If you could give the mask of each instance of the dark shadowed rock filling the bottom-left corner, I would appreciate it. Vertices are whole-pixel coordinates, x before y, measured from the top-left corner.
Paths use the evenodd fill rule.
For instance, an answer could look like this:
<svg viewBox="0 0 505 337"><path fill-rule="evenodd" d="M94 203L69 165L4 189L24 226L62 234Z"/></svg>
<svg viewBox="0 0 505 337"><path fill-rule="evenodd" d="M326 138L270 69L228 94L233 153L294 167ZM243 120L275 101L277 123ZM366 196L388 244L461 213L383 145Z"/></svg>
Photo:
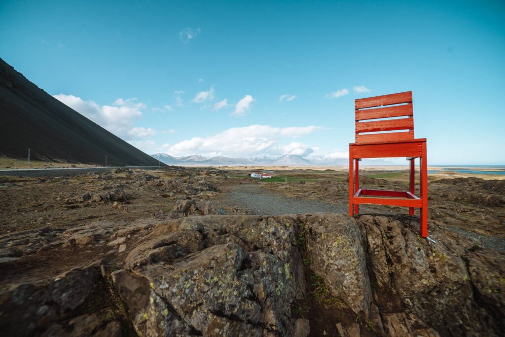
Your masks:
<svg viewBox="0 0 505 337"><path fill-rule="evenodd" d="M104 296L110 294L98 266L22 283L2 294L0 330L5 335L120 336L120 315Z"/></svg>

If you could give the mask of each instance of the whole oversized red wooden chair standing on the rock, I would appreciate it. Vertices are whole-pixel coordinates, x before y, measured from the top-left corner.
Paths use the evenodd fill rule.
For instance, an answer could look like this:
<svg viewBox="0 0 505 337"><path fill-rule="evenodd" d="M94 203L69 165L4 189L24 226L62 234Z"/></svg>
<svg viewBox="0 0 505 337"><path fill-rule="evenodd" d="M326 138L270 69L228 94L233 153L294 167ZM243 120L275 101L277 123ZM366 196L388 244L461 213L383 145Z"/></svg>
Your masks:
<svg viewBox="0 0 505 337"><path fill-rule="evenodd" d="M410 161L409 191L360 189L361 159L393 157ZM416 158L421 167L420 197L414 194ZM360 204L405 206L410 215L414 215L415 207L421 208L421 236L428 236L427 167L426 138L414 138L412 91L356 100L356 142L349 144L350 216L359 213Z"/></svg>

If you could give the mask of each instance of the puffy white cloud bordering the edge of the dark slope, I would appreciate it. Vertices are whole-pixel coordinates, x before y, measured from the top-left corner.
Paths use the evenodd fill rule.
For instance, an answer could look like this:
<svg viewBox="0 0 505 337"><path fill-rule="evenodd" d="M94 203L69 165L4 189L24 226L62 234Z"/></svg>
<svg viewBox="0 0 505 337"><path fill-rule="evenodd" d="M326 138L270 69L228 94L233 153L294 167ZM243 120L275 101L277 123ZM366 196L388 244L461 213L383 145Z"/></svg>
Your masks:
<svg viewBox="0 0 505 337"><path fill-rule="evenodd" d="M60 93L53 97L120 138L134 140L152 132L145 130L154 131L145 129L141 132L143 128L133 127L133 122L142 118L142 110L147 108L143 103L136 103L136 99L117 99L112 105L100 106L74 95Z"/></svg>

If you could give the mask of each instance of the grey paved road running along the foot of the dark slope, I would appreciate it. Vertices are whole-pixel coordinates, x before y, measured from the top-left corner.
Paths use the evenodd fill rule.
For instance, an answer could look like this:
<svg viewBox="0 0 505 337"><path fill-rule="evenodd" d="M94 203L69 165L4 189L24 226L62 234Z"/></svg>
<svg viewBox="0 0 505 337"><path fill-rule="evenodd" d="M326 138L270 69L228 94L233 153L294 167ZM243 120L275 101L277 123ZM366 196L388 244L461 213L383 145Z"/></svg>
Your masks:
<svg viewBox="0 0 505 337"><path fill-rule="evenodd" d="M7 169L0 170L0 175L22 177L56 177L62 175L79 175L89 171L109 171L115 168L129 169L158 169L158 166L98 166L98 167L67 167L67 168L44 168L44 169Z"/></svg>

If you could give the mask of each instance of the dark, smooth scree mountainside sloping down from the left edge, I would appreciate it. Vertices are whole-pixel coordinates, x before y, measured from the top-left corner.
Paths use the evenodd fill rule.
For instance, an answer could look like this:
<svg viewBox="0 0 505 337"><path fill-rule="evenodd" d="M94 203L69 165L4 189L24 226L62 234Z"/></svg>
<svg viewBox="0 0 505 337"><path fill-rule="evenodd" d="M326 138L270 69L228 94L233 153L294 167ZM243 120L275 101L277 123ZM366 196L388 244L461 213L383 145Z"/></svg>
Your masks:
<svg viewBox="0 0 505 337"><path fill-rule="evenodd" d="M114 166L158 160L93 123L0 59L0 156ZM162 164L164 165L164 164Z"/></svg>

